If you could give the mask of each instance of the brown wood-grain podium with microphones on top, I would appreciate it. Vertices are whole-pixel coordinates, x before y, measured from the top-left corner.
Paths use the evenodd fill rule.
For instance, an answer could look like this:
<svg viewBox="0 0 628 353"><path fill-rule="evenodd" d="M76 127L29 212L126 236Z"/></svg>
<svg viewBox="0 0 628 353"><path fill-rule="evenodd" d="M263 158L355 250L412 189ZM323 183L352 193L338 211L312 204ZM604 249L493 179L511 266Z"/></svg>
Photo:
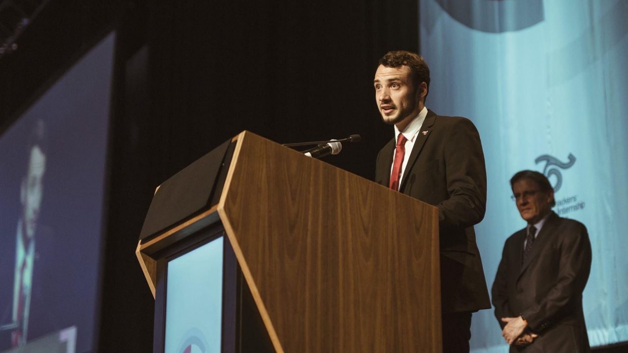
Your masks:
<svg viewBox="0 0 628 353"><path fill-rule="evenodd" d="M237 293L224 290L239 308L229 336L237 342L223 342L223 352L255 347L242 344L246 335L276 352L441 352L436 207L247 131L224 146L206 206L139 241L156 303L167 250L219 227L237 260L238 293L252 303L247 309L246 295L232 300ZM225 281L233 273L225 269ZM242 315L260 324L242 330L253 320ZM248 350L262 352L263 343Z"/></svg>

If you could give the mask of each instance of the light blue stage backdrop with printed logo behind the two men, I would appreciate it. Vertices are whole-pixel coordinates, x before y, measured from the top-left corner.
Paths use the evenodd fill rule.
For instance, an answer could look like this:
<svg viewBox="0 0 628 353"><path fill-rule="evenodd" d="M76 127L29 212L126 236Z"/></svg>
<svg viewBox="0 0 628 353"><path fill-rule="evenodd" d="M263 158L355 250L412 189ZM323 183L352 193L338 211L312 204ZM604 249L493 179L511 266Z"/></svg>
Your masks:
<svg viewBox="0 0 628 353"><path fill-rule="evenodd" d="M489 181L477 225L487 284L524 227L509 178L548 175L554 210L587 225L583 294L593 346L628 340L628 1L420 2L426 106L477 125ZM493 310L474 314L473 352L506 352Z"/></svg>

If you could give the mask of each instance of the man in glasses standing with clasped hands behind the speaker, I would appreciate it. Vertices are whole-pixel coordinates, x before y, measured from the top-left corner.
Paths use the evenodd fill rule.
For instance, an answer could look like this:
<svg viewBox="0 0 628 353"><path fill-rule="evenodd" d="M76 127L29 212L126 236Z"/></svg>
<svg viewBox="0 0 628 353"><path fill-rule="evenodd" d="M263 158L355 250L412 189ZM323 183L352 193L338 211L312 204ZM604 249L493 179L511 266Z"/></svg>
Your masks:
<svg viewBox="0 0 628 353"><path fill-rule="evenodd" d="M511 352L588 352L582 312L591 269L587 228L552 212L554 190L543 174L519 171L511 187L528 226L506 239L493 283L502 336Z"/></svg>

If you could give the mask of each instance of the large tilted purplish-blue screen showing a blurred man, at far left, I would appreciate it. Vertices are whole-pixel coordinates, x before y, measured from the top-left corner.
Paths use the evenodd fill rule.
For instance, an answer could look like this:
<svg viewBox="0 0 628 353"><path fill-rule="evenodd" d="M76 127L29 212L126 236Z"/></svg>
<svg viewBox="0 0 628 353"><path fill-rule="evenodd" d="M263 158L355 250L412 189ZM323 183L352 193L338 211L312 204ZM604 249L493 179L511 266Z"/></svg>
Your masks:
<svg viewBox="0 0 628 353"><path fill-rule="evenodd" d="M0 352L91 352L115 36L0 136Z"/></svg>

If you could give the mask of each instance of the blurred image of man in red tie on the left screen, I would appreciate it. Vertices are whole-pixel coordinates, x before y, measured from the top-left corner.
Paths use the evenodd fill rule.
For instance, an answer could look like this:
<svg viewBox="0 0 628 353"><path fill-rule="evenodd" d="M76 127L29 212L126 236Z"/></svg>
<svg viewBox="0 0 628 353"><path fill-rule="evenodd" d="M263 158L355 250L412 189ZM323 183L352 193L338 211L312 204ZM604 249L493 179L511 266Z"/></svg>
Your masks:
<svg viewBox="0 0 628 353"><path fill-rule="evenodd" d="M13 332L11 332L11 345L13 347L26 344L28 334L37 224L46 172L44 141L45 126L43 121L38 120L28 139L26 149L28 164L21 180L21 214L16 230L16 261L13 285L12 318L15 325Z"/></svg>

